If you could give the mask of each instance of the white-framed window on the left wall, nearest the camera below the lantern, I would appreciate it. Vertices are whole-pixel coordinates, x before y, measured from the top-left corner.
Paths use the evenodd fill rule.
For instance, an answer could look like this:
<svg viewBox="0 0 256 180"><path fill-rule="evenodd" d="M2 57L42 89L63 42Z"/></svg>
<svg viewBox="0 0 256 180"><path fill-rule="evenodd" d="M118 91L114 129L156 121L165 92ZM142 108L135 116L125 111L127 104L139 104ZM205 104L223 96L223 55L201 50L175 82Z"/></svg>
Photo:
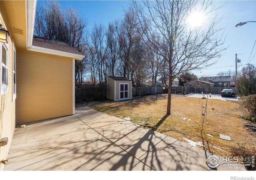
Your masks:
<svg viewBox="0 0 256 180"><path fill-rule="evenodd" d="M0 95L8 93L8 44L0 43Z"/></svg>

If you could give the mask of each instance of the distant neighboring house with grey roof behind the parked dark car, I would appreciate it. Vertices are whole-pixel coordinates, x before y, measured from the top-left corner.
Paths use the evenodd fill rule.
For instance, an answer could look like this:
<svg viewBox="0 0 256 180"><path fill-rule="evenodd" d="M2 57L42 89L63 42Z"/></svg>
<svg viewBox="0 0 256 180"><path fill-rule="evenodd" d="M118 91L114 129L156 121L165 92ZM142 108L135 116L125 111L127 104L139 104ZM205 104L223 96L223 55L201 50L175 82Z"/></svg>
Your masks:
<svg viewBox="0 0 256 180"><path fill-rule="evenodd" d="M212 76L212 77L203 77L200 79L214 83L215 87L230 87L230 86L232 86L231 76Z"/></svg>

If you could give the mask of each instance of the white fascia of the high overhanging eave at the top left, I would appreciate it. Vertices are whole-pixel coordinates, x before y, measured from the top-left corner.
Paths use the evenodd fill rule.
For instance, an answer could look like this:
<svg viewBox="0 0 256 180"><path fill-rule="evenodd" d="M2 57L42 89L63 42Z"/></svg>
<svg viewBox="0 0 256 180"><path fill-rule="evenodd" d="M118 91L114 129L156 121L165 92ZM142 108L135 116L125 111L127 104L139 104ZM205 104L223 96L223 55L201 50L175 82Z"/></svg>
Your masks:
<svg viewBox="0 0 256 180"><path fill-rule="evenodd" d="M37 0L26 1L26 18L27 18L27 48L32 46L34 36L34 25L36 19L36 2Z"/></svg>

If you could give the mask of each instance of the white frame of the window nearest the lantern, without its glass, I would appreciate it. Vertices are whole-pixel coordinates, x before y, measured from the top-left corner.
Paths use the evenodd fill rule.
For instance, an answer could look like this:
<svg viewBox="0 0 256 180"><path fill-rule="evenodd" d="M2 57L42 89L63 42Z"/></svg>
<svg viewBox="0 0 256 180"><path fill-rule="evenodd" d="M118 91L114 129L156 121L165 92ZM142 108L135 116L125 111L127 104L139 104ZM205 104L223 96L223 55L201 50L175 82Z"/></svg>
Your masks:
<svg viewBox="0 0 256 180"><path fill-rule="evenodd" d="M3 66L3 63L2 63L2 47L4 47L6 49L6 65L5 65L5 68L7 70L7 84L3 84L2 82L2 66ZM5 43L0 43L0 64L1 64L1 68L0 68L0 86L1 86L1 89L0 89L0 95L2 94L6 94L8 93L8 80L9 80L9 75L8 75L8 72L9 72L9 69L8 69L8 44L5 44Z"/></svg>

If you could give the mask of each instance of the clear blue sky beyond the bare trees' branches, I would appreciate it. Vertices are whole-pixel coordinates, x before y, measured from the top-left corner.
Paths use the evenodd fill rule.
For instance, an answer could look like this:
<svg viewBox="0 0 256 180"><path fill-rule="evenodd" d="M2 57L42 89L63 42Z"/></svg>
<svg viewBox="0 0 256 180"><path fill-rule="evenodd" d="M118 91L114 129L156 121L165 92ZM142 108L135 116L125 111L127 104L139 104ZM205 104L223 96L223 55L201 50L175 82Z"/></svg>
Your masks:
<svg viewBox="0 0 256 180"><path fill-rule="evenodd" d="M41 2L43 1L38 1L38 3ZM194 71L194 74L198 77L217 76L218 72L228 70L235 71L235 54L241 60L241 63L238 63L238 72L248 62L256 64L256 45L254 47L256 42L256 22L248 22L240 28L235 27L240 22L256 21L256 0L221 0L216 1L216 3L218 6L224 4L217 12L219 16L223 16L220 26L225 28L224 35L226 35L226 40L224 47L228 48L215 65ZM75 10L80 11L80 15L88 23L87 29L91 30L95 23L101 23L107 27L109 22L122 19L124 9L128 7L129 1L64 0L60 1L60 4L63 8L72 6Z"/></svg>

